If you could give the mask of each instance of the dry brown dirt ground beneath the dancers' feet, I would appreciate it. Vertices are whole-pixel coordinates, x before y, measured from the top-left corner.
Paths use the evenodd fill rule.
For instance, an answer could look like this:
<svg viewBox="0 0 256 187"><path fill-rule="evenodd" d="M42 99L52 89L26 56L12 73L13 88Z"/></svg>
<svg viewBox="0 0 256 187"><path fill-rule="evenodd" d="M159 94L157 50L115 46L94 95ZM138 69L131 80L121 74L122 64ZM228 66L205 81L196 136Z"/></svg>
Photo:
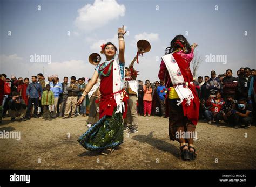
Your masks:
<svg viewBox="0 0 256 187"><path fill-rule="evenodd" d="M237 130L225 124L198 123L198 157L189 162L181 160L179 143L169 140L168 119L139 116L139 132L125 131L124 143L108 156L87 151L77 142L87 130L86 120L80 116L25 122L4 118L0 131L20 131L21 140L0 139L0 168L256 169L255 126Z"/></svg>

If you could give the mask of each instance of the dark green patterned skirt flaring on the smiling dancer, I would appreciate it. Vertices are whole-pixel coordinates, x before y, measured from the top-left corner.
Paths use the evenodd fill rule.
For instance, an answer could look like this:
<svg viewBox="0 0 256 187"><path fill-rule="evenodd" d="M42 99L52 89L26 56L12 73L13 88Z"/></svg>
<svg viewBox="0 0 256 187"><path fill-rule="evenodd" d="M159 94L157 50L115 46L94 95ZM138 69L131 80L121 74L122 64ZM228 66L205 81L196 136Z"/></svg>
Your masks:
<svg viewBox="0 0 256 187"><path fill-rule="evenodd" d="M112 116L103 116L77 141L87 150L111 149L123 143L123 116L114 112Z"/></svg>

